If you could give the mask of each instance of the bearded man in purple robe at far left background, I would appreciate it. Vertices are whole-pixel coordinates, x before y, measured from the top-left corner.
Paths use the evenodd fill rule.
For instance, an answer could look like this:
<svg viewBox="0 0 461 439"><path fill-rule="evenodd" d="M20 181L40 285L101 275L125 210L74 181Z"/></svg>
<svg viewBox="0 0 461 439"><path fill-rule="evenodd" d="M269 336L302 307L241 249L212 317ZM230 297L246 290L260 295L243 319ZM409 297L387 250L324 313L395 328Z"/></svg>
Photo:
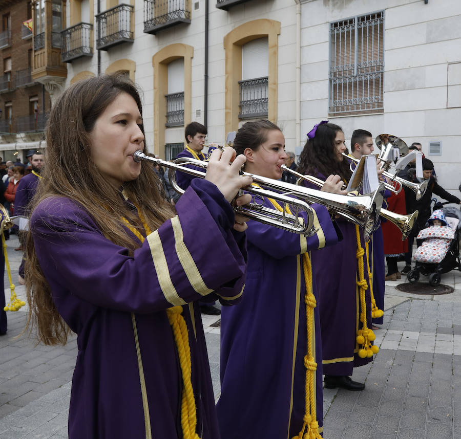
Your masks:
<svg viewBox="0 0 461 439"><path fill-rule="evenodd" d="M17 186L16 196L14 199L14 214L29 216L28 205L37 190L38 180L41 179L40 172L44 167L44 157L40 151L34 151L31 155L30 164L32 172L25 175ZM23 245L22 234L19 234L19 240ZM19 283L24 285L24 256L19 266Z"/></svg>

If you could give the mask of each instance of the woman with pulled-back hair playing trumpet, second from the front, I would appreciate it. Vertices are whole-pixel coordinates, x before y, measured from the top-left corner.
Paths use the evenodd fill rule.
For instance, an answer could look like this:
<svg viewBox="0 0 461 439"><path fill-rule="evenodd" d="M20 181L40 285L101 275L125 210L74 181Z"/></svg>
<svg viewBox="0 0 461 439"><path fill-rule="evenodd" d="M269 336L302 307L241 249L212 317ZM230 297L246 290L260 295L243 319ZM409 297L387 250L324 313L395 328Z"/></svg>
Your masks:
<svg viewBox="0 0 461 439"><path fill-rule="evenodd" d="M278 126L268 120L247 122L234 148L245 155L246 172L282 177L287 155ZM332 175L325 190L339 191L339 180ZM275 200L264 205L283 209ZM338 236L327 209L312 206L318 232L311 237L248 222L244 295L238 305L222 309L217 404L222 439L303 437L308 429L320 437L322 356L317 308L312 309L316 280L307 252L336 243ZM311 380L306 382L306 375Z"/></svg>

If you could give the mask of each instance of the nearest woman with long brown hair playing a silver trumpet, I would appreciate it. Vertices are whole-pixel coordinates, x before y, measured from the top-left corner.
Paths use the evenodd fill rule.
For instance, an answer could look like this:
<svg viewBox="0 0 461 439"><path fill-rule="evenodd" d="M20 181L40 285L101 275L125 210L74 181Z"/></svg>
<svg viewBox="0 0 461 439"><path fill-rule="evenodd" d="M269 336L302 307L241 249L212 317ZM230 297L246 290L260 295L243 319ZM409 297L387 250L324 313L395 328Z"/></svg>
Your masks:
<svg viewBox="0 0 461 439"><path fill-rule="evenodd" d="M142 108L128 79L79 81L53 105L30 220L29 321L46 344L78 335L70 439L215 439L195 301L240 298L246 224L229 201L251 179L238 174L244 157L229 165L235 151L217 151L174 210L137 149Z"/></svg>

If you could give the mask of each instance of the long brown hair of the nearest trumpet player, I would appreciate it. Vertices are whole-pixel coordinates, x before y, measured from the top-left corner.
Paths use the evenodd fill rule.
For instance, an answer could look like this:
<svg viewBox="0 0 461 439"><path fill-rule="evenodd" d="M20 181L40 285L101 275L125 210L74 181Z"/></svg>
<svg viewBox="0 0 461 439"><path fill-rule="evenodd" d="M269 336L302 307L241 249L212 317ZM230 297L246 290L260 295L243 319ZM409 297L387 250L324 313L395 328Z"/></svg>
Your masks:
<svg viewBox="0 0 461 439"><path fill-rule="evenodd" d="M90 213L106 238L132 254L139 242L125 232L121 217L142 229L139 218L127 208L119 191L104 179L90 154L89 135L96 119L120 93L133 97L142 117L136 86L124 76L88 78L71 85L60 95L47 123L46 166L30 210L32 212L38 203L50 196L67 197ZM143 125L141 130L144 133ZM145 143L143 152L146 152ZM129 200L139 207L151 230L158 229L174 216L174 209L159 192L158 177L149 162L142 162L139 177L125 182L123 188ZM29 302L26 330L32 332L35 328L38 340L45 344L65 344L70 329L56 310L31 233L26 249L26 292Z"/></svg>

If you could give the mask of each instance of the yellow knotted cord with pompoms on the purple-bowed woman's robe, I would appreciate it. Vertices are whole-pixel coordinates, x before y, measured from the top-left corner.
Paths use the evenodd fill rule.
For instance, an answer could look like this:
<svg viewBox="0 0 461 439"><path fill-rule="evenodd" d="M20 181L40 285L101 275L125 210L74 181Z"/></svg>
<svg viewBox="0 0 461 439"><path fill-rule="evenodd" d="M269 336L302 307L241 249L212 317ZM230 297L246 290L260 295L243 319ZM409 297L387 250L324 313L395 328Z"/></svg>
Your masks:
<svg viewBox="0 0 461 439"><path fill-rule="evenodd" d="M359 347L358 355L360 358L370 358L373 354L378 354L379 347L374 346L371 342L376 338L373 331L367 327L367 304L365 301L365 292L368 290L368 283L365 279L363 255L365 254L360 242L359 226L355 225L355 235L357 236L357 261L359 266L359 299L360 299L360 321L362 322L362 329L357 331L357 343L362 345ZM367 258L368 261L368 258Z"/></svg>

